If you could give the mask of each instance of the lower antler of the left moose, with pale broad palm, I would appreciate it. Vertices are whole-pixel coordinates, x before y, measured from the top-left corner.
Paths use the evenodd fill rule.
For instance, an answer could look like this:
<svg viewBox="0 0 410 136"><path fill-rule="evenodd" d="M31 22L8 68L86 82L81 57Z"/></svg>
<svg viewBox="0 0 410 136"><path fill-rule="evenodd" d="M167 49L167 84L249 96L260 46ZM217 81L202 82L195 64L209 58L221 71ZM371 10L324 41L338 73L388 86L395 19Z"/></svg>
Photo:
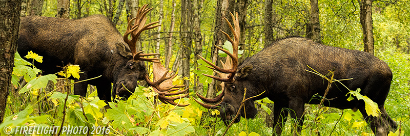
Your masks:
<svg viewBox="0 0 410 136"><path fill-rule="evenodd" d="M180 99L183 97L187 97L189 94L185 94L182 96L174 96L174 97L167 97L171 95L178 95L182 94L188 91L189 88L179 91L179 92L174 92L174 93L169 93L171 91L176 91L179 90L183 86L177 86L177 85L172 85L172 78L176 76L175 73L169 73L168 69L163 67L160 63L153 63L153 71L154 71L154 81L150 80L150 77L148 74L145 75L145 80L147 81L148 85L150 85L155 92L157 92L158 99L162 101L163 103L170 103L172 105L176 106L188 106L189 104L178 104L174 102L176 99Z"/></svg>

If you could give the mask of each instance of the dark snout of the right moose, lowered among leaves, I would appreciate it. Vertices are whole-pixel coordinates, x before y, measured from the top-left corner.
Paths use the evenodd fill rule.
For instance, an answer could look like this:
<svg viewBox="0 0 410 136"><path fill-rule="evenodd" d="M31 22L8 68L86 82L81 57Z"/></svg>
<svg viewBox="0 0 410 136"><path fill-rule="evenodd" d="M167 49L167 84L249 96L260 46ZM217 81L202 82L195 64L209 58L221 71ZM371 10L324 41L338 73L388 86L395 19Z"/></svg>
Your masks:
<svg viewBox="0 0 410 136"><path fill-rule="evenodd" d="M221 106L219 108L219 113L220 113L223 123L228 126L229 123L231 123L231 121L235 118L237 111L238 109L232 106L231 104L221 103ZM239 121L240 121L240 116L238 116L234 122L237 123Z"/></svg>

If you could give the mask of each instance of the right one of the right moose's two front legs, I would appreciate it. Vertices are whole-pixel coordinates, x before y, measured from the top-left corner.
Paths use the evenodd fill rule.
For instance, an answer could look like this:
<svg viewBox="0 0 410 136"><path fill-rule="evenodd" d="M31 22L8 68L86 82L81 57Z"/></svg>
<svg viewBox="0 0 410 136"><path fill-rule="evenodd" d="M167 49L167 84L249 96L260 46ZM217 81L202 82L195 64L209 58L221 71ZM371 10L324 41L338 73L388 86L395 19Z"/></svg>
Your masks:
<svg viewBox="0 0 410 136"><path fill-rule="evenodd" d="M302 99L293 99L289 102L289 108L293 111L290 111L291 117L296 120L294 128L296 131L293 131L293 135L300 135L303 126L303 112L304 112L304 103Z"/></svg>

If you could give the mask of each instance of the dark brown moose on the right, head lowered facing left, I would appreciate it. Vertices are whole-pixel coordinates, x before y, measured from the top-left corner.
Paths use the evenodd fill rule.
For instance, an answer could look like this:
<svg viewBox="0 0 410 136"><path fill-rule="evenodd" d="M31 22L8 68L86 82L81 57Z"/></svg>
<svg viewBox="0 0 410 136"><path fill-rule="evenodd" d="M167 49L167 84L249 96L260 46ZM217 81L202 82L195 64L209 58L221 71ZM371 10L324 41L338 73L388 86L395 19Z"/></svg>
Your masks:
<svg viewBox="0 0 410 136"><path fill-rule="evenodd" d="M364 101L356 98L347 101L348 90L338 83L332 84L326 96L327 99L323 102L325 106L358 109L376 135L387 135L388 131L397 129L396 122L384 110L384 101L392 81L392 72L385 62L367 52L325 46L306 38L287 37L276 40L272 45L264 47L238 65L237 51L240 34L238 15L236 19L232 14L231 16L235 29L226 18L224 19L231 28L234 40L228 34L222 33L232 43L233 53L218 48L232 58L232 68L222 69L202 58L212 66L209 68L229 74L226 78L207 75L225 82L223 92L214 99L204 98L197 94L204 102L217 103L209 105L197 101L206 108L219 107L221 119L226 125L229 123L227 121L231 121L238 112L246 88L245 98L266 92L245 101L245 112L243 108L240 111L242 117L255 117L257 110L254 101L268 97L274 101L273 135L281 134L288 114L298 122L294 124L297 125L294 127L297 130L293 134L300 133L304 119L304 103L319 104L320 96L324 95L327 87L325 79L306 71L310 70L308 67L310 66L322 74L334 69L335 79L353 78L343 80L341 83L351 90L360 88L360 94L376 102L381 113L378 117L368 116L365 112ZM235 122L239 120L240 118L237 118Z"/></svg>

